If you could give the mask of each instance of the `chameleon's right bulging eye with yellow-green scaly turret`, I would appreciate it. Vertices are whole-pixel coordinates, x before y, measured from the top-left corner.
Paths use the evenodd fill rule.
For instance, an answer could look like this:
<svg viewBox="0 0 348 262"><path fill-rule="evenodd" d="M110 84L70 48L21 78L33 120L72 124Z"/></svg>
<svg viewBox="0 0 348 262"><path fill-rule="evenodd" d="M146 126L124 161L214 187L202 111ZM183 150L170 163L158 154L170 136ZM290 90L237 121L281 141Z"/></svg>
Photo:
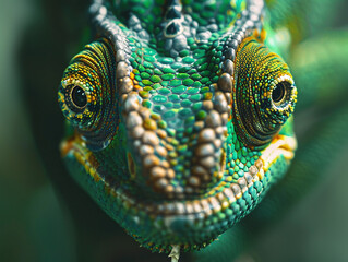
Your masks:
<svg viewBox="0 0 348 262"><path fill-rule="evenodd" d="M267 47L248 37L236 57L233 121L245 146L262 148L293 111L297 88L288 66Z"/></svg>

